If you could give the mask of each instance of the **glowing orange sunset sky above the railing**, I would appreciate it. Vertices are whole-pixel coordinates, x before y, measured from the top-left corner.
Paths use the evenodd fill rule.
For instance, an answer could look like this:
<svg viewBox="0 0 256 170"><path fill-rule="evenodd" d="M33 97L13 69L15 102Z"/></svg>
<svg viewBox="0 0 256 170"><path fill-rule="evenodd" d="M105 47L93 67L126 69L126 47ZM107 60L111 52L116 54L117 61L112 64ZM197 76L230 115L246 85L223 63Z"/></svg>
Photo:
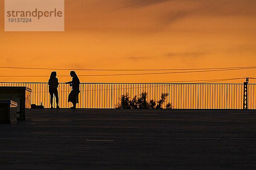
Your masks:
<svg viewBox="0 0 256 170"><path fill-rule="evenodd" d="M70 70L256 66L255 9L256 0L65 0L64 32L5 32L4 0L0 0L0 66ZM51 71L0 68L0 76L47 75L0 77L0 82L47 82ZM70 81L68 70L56 71L67 75L57 76L59 82ZM189 82L238 77L256 77L256 69L79 78L81 82Z"/></svg>

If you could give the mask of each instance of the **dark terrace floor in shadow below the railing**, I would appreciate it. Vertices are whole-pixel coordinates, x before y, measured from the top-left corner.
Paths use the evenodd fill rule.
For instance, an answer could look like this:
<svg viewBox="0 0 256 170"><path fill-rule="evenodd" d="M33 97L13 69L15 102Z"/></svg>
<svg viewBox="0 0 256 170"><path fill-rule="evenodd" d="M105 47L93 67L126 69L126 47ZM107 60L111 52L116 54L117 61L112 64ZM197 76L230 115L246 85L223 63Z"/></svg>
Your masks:
<svg viewBox="0 0 256 170"><path fill-rule="evenodd" d="M256 169L256 111L32 109L0 124L0 169Z"/></svg>

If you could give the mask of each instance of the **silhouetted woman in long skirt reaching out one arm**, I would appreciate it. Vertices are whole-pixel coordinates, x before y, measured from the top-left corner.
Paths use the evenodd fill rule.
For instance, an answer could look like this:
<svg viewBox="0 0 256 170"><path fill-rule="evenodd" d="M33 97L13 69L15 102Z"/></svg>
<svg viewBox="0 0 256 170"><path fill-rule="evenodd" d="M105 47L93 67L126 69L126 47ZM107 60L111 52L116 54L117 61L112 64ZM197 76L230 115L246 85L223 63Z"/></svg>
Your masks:
<svg viewBox="0 0 256 170"><path fill-rule="evenodd" d="M77 77L75 71L70 71L70 76L72 77L72 81L71 82L65 82L66 84L69 84L70 86L72 86L72 91L68 95L67 102L72 102L73 107L71 107L71 108L75 109L76 108L76 103L79 103L78 95L80 93L80 90L79 90L80 81L79 81L79 78Z"/></svg>

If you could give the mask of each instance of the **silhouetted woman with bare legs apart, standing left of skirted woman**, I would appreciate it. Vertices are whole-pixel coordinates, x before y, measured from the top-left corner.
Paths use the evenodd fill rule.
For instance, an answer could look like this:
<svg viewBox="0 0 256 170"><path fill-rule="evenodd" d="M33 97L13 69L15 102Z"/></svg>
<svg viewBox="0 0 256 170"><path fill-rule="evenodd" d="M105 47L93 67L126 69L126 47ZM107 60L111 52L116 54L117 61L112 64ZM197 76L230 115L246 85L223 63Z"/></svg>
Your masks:
<svg viewBox="0 0 256 170"><path fill-rule="evenodd" d="M50 103L51 103L51 108L52 107L52 100L53 100L53 94L56 98L56 104L57 104L57 107L56 108L60 108L58 106L58 79L57 79L57 73L56 71L52 71L51 75L50 75L50 79L48 81L48 85L49 85L49 94L50 94Z"/></svg>

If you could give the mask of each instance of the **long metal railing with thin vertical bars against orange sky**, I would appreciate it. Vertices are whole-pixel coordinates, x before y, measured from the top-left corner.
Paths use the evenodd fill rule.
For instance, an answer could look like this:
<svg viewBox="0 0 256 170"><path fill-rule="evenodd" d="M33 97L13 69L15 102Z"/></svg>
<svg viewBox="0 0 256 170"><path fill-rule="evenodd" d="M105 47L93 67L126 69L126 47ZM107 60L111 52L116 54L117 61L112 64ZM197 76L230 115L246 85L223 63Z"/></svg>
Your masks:
<svg viewBox="0 0 256 170"><path fill-rule="evenodd" d="M32 89L32 104L50 107L48 84L41 82L0 82L0 86L26 86ZM248 84L248 109L256 109L256 84ZM71 107L67 102L71 87L58 86L59 106ZM147 102L159 101L162 94L169 94L162 107L168 103L176 109L242 109L243 84L233 83L81 83L77 108L117 108L122 95L130 99L147 93ZM54 102L55 103L55 102Z"/></svg>

